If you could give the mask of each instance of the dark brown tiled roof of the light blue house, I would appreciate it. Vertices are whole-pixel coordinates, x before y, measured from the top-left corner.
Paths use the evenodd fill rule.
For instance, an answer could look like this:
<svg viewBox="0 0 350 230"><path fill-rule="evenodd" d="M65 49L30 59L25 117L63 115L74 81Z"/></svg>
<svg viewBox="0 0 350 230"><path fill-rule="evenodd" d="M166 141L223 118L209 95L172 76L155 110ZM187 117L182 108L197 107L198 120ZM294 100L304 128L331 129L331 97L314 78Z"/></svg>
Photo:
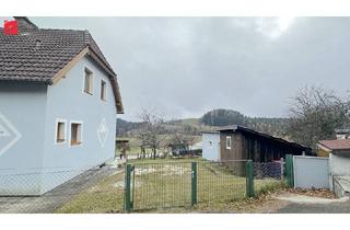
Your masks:
<svg viewBox="0 0 350 230"><path fill-rule="evenodd" d="M25 16L15 20L19 35L5 35L0 27L0 80L52 84L60 70L86 50L107 73L117 112L124 113L117 74L89 31L38 28Z"/></svg>

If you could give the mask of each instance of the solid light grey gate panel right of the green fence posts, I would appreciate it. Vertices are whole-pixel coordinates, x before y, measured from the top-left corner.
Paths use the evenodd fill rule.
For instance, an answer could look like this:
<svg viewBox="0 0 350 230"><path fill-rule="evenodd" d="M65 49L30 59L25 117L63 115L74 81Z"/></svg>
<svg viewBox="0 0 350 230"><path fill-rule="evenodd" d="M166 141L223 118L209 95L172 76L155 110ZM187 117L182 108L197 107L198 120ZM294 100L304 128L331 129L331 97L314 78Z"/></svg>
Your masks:
<svg viewBox="0 0 350 230"><path fill-rule="evenodd" d="M329 188L328 161L328 158L294 156L294 187Z"/></svg>

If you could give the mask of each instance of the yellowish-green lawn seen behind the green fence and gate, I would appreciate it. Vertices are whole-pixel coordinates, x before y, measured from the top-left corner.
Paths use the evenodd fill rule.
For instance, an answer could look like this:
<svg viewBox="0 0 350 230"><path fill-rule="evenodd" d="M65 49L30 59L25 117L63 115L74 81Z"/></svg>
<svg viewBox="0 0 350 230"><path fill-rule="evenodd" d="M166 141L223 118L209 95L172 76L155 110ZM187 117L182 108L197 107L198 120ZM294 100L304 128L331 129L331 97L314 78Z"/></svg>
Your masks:
<svg viewBox="0 0 350 230"><path fill-rule="evenodd" d="M156 212L162 208L178 207L192 210L191 204L191 162L198 162L198 205L235 203L245 199L246 179L244 162L220 164L195 159L144 159L131 160L133 171L133 209ZM95 186L74 197L57 212L122 212L124 211L122 171L106 176ZM282 187L278 180L255 180L257 194Z"/></svg>

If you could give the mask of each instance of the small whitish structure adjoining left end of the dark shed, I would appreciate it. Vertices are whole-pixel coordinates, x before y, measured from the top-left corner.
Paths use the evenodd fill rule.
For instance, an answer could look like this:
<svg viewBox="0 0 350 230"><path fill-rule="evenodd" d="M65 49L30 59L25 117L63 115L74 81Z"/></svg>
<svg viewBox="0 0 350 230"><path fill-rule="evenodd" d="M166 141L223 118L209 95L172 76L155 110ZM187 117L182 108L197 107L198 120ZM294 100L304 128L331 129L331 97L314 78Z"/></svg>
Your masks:
<svg viewBox="0 0 350 230"><path fill-rule="evenodd" d="M220 160L220 133L202 133L202 158L210 161Z"/></svg>

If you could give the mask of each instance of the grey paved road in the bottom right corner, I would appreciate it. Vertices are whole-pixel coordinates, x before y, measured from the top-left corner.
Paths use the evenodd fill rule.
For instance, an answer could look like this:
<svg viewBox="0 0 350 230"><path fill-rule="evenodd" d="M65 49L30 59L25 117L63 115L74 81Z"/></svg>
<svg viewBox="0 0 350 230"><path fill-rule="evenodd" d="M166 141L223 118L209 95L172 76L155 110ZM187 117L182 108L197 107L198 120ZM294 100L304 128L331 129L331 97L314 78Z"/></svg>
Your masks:
<svg viewBox="0 0 350 230"><path fill-rule="evenodd" d="M350 214L350 202L330 204L292 203L276 211L277 214Z"/></svg>

